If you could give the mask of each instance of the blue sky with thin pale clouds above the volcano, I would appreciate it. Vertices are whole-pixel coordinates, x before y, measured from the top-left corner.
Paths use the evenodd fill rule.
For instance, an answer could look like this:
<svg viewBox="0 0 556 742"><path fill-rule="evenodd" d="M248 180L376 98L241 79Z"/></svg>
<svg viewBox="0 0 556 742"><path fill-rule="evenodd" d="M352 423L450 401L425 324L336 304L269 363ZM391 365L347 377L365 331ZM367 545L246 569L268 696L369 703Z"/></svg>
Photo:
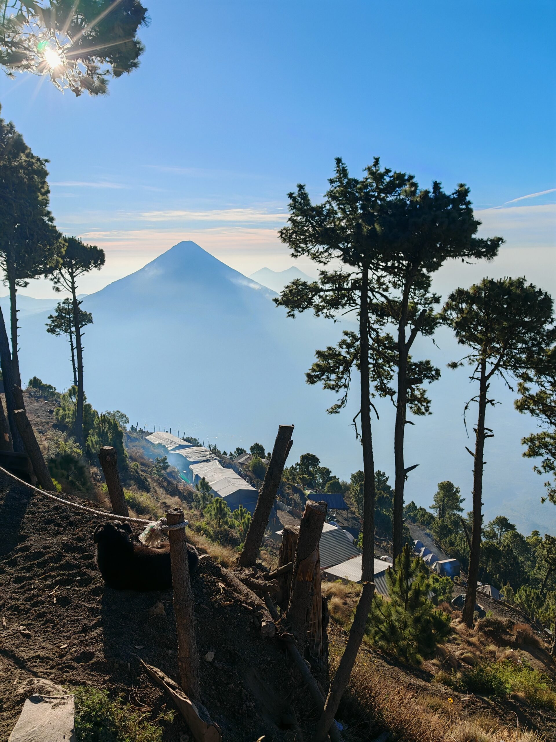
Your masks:
<svg viewBox="0 0 556 742"><path fill-rule="evenodd" d="M105 98L0 78L2 116L50 159L59 228L107 252L83 291L187 239L245 273L288 267L286 194L318 198L338 155L468 183L507 240L489 274L556 291L554 2L146 4L141 67ZM440 288L485 270L447 266Z"/></svg>

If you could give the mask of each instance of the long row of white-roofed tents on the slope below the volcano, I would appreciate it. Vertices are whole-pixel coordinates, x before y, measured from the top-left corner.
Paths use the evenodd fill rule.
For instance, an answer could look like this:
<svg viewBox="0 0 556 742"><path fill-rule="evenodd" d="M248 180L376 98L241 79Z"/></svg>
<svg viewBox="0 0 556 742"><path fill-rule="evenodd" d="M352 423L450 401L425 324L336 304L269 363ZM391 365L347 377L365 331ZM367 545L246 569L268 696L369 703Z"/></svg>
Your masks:
<svg viewBox="0 0 556 742"><path fill-rule="evenodd" d="M211 486L215 497L225 499L230 510L239 505L254 513L258 491L251 487L234 469L220 464L214 453L204 446L194 446L172 436L171 433L153 433L147 436L153 444L162 444L168 450L168 462L176 467L190 485L197 485L203 477Z"/></svg>

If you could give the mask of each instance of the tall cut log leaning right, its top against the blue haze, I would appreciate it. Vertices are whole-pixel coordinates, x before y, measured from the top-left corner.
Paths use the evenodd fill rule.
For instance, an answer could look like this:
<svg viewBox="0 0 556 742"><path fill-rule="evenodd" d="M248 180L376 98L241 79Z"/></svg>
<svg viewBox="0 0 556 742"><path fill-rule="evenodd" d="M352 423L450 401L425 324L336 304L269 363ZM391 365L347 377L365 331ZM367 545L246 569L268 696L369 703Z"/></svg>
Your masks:
<svg viewBox="0 0 556 742"><path fill-rule="evenodd" d="M265 474L265 481L259 491L257 507L251 518L251 525L245 536L243 551L239 554L237 563L240 567L251 567L257 561L257 554L262 544L262 536L268 524L274 499L282 479L285 461L291 448L291 434L294 432L293 425L280 425L278 435L274 441L271 460Z"/></svg>

